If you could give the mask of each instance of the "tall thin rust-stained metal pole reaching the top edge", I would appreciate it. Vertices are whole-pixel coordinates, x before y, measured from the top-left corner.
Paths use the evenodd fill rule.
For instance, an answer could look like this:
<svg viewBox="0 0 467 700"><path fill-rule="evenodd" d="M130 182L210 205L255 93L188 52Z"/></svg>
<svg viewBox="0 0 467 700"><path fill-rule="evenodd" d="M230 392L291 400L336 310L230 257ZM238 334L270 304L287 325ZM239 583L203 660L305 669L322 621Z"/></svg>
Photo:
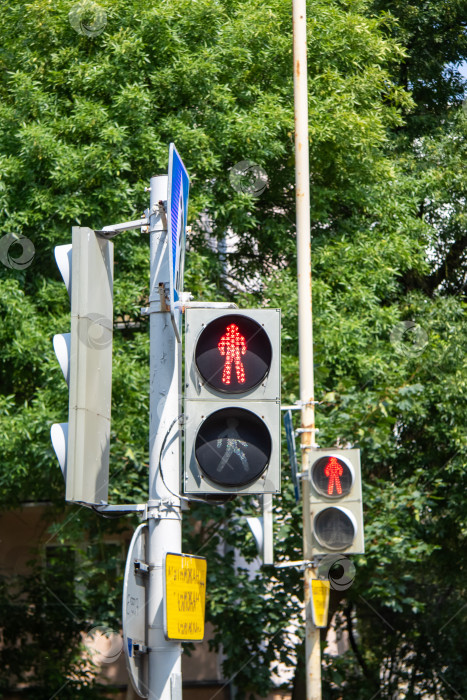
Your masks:
<svg viewBox="0 0 467 700"><path fill-rule="evenodd" d="M292 0L293 60L295 108L295 202L297 223L298 338L300 363L300 401L302 403L302 493L303 558L313 559L311 540L310 485L306 478L310 447L315 445L313 382L313 314L311 302L310 166L308 156L308 84L306 0ZM304 602L306 618L305 668L307 700L321 699L320 632L313 624L311 580L312 566L305 568Z"/></svg>

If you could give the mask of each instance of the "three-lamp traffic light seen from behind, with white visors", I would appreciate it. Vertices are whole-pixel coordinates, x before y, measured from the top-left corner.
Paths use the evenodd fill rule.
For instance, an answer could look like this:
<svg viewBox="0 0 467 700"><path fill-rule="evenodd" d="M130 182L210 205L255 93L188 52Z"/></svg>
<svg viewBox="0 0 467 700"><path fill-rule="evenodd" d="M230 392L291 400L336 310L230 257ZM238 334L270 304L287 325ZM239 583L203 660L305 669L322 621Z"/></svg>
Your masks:
<svg viewBox="0 0 467 700"><path fill-rule="evenodd" d="M55 259L71 299L71 332L54 336L69 404L68 423L52 425L51 439L66 500L99 504L108 498L113 243L76 226Z"/></svg>

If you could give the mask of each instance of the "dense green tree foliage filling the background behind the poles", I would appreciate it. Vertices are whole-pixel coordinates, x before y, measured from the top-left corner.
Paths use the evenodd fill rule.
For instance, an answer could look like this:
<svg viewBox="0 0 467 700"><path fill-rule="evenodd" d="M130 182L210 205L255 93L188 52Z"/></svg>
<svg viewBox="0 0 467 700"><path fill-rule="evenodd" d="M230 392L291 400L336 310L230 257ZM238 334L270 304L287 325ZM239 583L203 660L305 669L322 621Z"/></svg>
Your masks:
<svg viewBox="0 0 467 700"><path fill-rule="evenodd" d="M69 300L53 247L73 224L137 218L172 140L191 178L186 288L281 307L283 401L299 398L291 3L116 0L94 36L73 29L72 7L0 7L0 239L22 234L35 247L26 269L0 264L0 498L5 508L52 501L57 521L68 511L49 427L65 420L67 390L51 338L68 330ZM308 3L319 442L361 448L366 521L355 583L333 596L352 647L325 657L328 698L467 688L467 120L460 77L446 67L466 56L465 10L464 1ZM267 173L260 196L232 187L230 170L245 159ZM147 494L148 253L144 234L116 239L124 328L114 334L113 502ZM283 457L276 560L298 560L301 507ZM266 694L271 669L293 668L301 653L300 572L248 569L256 555L244 516L257 509L254 499L192 505L184 521L185 551L208 557L212 643L239 697ZM32 670L37 698L65 682L63 693L76 694L79 631L119 627L120 554L103 548L118 525L72 512L52 534L74 550L88 543L76 551L76 617L38 585L45 576L52 591L54 581L70 586L59 562L22 582L34 607L2 584L2 690L11 673ZM86 682L80 696L98 697Z"/></svg>

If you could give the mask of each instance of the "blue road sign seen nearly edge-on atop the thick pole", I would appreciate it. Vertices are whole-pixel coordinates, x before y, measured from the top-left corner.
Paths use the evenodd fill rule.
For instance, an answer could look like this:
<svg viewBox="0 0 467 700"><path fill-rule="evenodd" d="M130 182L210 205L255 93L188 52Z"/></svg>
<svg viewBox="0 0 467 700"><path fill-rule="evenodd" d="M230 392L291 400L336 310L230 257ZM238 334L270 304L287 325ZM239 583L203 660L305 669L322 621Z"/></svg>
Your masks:
<svg viewBox="0 0 467 700"><path fill-rule="evenodd" d="M186 222L190 179L175 144L169 146L169 183L167 191L167 228L170 261L170 310L177 339L181 340L182 312L180 294L183 291L185 265Z"/></svg>

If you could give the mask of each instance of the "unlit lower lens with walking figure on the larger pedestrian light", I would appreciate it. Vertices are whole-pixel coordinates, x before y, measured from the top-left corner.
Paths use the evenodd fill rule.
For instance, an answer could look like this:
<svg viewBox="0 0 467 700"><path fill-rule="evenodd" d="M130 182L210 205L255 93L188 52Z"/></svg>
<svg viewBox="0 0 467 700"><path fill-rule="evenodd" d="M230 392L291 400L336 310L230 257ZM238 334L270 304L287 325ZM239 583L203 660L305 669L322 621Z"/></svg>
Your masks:
<svg viewBox="0 0 467 700"><path fill-rule="evenodd" d="M195 457L204 476L221 486L246 486L269 464L272 440L266 424L244 408L223 408L198 430Z"/></svg>

